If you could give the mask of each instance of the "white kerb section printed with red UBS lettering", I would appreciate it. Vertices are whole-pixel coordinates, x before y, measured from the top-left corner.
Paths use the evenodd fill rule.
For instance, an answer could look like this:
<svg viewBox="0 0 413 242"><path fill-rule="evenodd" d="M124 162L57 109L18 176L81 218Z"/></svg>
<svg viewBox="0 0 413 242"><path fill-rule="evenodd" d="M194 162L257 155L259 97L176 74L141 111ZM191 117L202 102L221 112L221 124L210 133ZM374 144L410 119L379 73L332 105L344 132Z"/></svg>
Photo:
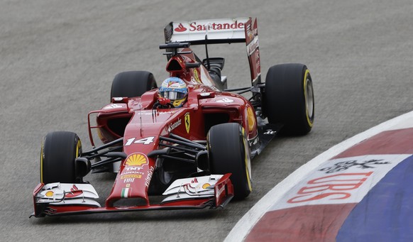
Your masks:
<svg viewBox="0 0 413 242"><path fill-rule="evenodd" d="M286 192L270 210L360 202L409 155L360 155L327 160Z"/></svg>

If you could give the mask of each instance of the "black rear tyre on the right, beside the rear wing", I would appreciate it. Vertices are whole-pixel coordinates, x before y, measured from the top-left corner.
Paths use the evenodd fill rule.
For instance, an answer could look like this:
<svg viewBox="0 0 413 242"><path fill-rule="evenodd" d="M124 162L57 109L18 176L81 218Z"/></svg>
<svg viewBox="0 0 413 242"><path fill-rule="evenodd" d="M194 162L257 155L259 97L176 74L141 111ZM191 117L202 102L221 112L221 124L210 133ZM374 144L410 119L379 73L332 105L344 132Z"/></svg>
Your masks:
<svg viewBox="0 0 413 242"><path fill-rule="evenodd" d="M270 67L265 77L263 111L269 123L283 123L282 133L304 135L314 123L314 91L307 66Z"/></svg>

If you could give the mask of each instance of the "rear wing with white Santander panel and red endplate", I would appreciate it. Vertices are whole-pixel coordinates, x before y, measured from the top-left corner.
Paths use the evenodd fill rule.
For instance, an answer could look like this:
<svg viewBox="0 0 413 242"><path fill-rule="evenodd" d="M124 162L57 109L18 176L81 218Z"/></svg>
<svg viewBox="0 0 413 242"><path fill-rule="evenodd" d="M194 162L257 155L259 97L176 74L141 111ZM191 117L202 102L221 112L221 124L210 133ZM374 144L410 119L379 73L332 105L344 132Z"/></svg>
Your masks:
<svg viewBox="0 0 413 242"><path fill-rule="evenodd" d="M222 18L170 22L165 26L165 43L189 42L191 45L246 43L251 82L260 82L260 52L257 18Z"/></svg>

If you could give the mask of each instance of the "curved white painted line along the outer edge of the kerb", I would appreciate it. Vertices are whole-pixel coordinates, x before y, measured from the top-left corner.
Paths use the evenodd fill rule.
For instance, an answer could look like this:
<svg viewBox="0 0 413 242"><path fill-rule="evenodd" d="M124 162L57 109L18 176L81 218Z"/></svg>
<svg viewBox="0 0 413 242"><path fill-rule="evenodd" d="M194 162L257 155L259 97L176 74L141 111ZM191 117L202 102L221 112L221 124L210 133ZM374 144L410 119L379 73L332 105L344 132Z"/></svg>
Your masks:
<svg viewBox="0 0 413 242"><path fill-rule="evenodd" d="M318 167L326 160L330 160L334 156L342 153L343 151L351 148L353 145L364 141L367 138L375 136L382 131L387 130L395 130L401 128L411 128L413 126L413 111L410 111L407 114L403 114L401 116L397 116L394 119L390 119L389 121L385 121L384 123L380 123L378 126L368 129L363 133L359 133L356 136L348 138L346 141L338 143L333 147L326 150L324 153L317 155L316 158L310 160L308 163L305 163L297 170L292 172L285 180L278 183L274 188L270 190L265 196L257 202L248 211L233 227L231 232L228 233L228 236L225 238L225 242L238 242L243 241L250 230L253 229L253 226L260 220L260 218L272 207L272 205L276 204L283 195L288 192L294 185L297 185L299 181L301 181L304 177L306 177L309 172L312 172L315 167Z"/></svg>

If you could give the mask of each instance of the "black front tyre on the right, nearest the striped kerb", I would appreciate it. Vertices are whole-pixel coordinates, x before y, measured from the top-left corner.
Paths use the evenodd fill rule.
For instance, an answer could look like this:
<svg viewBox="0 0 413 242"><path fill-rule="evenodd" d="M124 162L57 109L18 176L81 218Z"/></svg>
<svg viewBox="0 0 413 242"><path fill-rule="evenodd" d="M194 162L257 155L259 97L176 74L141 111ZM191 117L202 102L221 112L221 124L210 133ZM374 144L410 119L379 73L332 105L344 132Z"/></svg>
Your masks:
<svg viewBox="0 0 413 242"><path fill-rule="evenodd" d="M232 173L234 198L248 197L252 190L250 150L244 129L238 123L212 126L207 136L211 174Z"/></svg>

